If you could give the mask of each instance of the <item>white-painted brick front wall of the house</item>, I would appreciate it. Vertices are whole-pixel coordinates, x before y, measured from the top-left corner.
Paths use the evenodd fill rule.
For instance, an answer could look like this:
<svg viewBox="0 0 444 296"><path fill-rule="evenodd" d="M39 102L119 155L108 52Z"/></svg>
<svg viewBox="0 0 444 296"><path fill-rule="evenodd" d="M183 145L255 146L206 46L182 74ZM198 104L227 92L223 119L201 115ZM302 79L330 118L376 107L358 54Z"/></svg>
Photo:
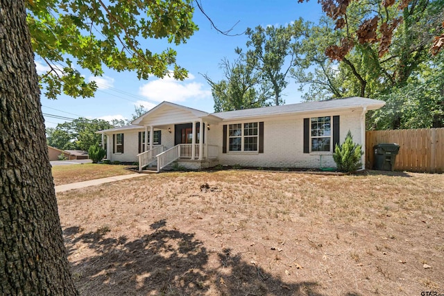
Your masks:
<svg viewBox="0 0 444 296"><path fill-rule="evenodd" d="M304 118L317 116L339 115L339 141L343 143L350 130L355 143L361 143L361 108L348 112L316 113L310 116L280 116L272 119L255 119L244 121L225 121L210 124L210 130L205 128L206 141L210 145L219 147L219 164L255 167L293 167L293 168L320 168L336 167L332 153L303 153L303 125ZM223 125L230 123L248 123L264 121L264 153L222 153ZM167 126L167 125L165 125ZM157 129L156 129L157 130ZM112 135L110 135L110 159L120 162L137 162L138 132L126 131L124 136L124 153L112 153ZM174 145L174 125L171 133L167 128L162 130L162 145L171 148Z"/></svg>

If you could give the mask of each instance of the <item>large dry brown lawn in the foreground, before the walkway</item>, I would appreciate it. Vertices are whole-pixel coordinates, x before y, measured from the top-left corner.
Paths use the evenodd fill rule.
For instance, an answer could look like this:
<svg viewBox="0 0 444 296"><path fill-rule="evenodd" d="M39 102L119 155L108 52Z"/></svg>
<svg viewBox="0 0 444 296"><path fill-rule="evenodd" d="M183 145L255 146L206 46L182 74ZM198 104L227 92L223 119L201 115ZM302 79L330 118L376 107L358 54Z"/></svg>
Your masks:
<svg viewBox="0 0 444 296"><path fill-rule="evenodd" d="M58 205L81 295L444 293L444 175L161 173Z"/></svg>

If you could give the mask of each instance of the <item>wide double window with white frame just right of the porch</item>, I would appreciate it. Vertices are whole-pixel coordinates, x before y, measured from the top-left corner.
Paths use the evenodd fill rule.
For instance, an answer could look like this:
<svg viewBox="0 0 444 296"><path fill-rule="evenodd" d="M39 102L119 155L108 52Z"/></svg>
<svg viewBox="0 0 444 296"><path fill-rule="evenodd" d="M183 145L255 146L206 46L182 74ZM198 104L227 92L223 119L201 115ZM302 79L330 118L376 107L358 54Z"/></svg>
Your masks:
<svg viewBox="0 0 444 296"><path fill-rule="evenodd" d="M259 125L253 123L235 123L228 125L229 151L257 151Z"/></svg>

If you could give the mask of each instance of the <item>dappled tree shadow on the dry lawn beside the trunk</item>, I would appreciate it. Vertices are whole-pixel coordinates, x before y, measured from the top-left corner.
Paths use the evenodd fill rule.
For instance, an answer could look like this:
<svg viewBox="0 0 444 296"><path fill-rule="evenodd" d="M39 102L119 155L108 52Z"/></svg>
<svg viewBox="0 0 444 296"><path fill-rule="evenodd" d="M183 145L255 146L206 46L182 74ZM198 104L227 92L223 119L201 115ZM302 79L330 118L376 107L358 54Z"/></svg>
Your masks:
<svg viewBox="0 0 444 296"><path fill-rule="evenodd" d="M103 231L64 229L70 258L80 256L71 260L80 294L323 295L316 282L286 283L229 249L209 252L194 234L167 229L166 224L153 223L153 233L133 241ZM220 261L218 267L209 267L210 256Z"/></svg>

